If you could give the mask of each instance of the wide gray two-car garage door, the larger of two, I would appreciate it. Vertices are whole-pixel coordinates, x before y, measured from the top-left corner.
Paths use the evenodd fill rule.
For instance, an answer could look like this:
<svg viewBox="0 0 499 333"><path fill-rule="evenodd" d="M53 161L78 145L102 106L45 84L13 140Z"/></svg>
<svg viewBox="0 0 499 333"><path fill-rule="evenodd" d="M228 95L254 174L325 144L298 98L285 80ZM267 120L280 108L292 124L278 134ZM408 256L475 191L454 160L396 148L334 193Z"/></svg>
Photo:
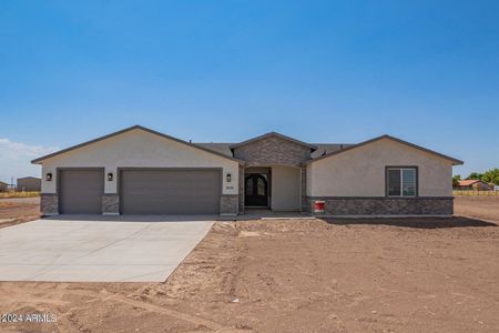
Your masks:
<svg viewBox="0 0 499 333"><path fill-rule="evenodd" d="M123 214L218 214L220 170L122 170Z"/></svg>

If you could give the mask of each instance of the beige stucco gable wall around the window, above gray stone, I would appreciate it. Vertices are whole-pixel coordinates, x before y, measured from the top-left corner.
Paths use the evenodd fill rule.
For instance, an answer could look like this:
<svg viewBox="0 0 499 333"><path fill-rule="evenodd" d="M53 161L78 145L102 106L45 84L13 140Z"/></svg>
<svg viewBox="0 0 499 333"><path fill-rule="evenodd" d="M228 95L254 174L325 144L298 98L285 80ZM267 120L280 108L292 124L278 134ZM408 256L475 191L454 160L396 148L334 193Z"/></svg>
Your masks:
<svg viewBox="0 0 499 333"><path fill-rule="evenodd" d="M384 139L307 165L307 195L385 196L385 167L419 168L419 196L452 195L452 163Z"/></svg>

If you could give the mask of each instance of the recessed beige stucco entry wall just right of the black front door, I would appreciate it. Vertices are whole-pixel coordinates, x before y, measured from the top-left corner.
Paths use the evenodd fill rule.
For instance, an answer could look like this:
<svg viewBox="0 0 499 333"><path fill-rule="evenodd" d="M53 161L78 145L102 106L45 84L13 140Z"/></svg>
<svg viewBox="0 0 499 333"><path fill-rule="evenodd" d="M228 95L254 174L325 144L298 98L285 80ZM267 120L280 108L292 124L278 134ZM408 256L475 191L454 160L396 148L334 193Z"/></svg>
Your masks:
<svg viewBox="0 0 499 333"><path fill-rule="evenodd" d="M301 181L298 168L272 167L272 209L295 211L301 209Z"/></svg>

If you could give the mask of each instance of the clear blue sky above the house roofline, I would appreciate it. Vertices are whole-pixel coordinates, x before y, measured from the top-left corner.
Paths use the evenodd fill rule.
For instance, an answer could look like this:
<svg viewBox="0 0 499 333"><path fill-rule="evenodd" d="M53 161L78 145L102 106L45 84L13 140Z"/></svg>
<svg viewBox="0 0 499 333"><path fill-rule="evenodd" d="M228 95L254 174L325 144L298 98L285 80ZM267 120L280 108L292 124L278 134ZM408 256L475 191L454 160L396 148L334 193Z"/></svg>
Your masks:
<svg viewBox="0 0 499 333"><path fill-rule="evenodd" d="M388 133L499 167L498 1L2 1L0 180L132 124L193 141Z"/></svg>

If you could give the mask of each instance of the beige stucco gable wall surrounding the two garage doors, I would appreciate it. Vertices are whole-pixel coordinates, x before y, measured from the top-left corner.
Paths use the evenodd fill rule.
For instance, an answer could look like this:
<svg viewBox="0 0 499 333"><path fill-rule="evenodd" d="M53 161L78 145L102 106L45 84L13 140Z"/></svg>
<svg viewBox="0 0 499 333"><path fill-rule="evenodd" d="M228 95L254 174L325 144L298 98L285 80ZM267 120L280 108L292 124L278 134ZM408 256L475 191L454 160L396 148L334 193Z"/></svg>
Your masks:
<svg viewBox="0 0 499 333"><path fill-rule="evenodd" d="M57 168L105 168L114 180L104 180L105 193L116 193L118 168L222 168L223 194L237 194L238 163L223 157L166 139L140 129L85 145L42 162L42 192L57 192ZM45 174L53 180L48 182ZM226 174L232 181L226 182Z"/></svg>

